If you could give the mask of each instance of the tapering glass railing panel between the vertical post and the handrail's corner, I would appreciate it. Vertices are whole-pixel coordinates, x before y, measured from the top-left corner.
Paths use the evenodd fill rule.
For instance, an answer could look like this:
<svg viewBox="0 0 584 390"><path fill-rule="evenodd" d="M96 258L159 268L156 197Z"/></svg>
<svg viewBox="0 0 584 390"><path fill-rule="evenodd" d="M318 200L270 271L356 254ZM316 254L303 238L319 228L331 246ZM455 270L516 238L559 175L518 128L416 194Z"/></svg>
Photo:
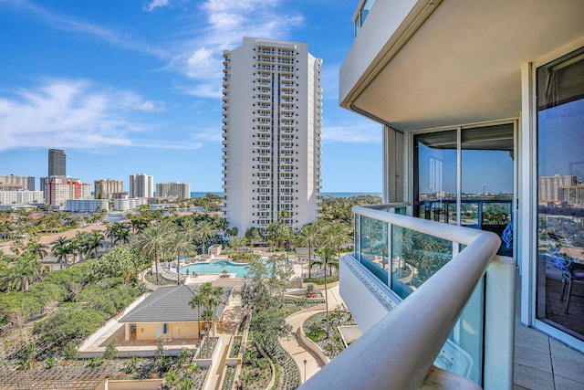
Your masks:
<svg viewBox="0 0 584 390"><path fill-rule="evenodd" d="M406 298L453 258L453 244L404 227L391 228L391 290Z"/></svg>

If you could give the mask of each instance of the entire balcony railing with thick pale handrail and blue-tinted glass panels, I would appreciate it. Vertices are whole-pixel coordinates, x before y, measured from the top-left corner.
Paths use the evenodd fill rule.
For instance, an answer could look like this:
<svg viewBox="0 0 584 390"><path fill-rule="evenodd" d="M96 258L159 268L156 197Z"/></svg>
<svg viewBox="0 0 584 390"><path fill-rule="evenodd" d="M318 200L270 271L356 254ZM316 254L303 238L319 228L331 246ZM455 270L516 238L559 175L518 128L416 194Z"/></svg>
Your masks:
<svg viewBox="0 0 584 390"><path fill-rule="evenodd" d="M302 388L418 389L436 366L511 389L513 259L495 256L491 232L406 210L353 208L355 253L340 261L339 286L363 335Z"/></svg>

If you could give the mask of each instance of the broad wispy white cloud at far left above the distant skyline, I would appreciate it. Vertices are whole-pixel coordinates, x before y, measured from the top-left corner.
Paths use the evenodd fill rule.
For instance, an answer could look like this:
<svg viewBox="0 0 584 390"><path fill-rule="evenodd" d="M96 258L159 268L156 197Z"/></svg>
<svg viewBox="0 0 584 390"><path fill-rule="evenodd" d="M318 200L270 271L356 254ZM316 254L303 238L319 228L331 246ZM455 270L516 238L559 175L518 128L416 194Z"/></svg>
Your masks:
<svg viewBox="0 0 584 390"><path fill-rule="evenodd" d="M94 149L132 146L130 133L149 127L135 111L157 111L160 104L87 80L52 79L36 89L0 96L0 151L23 147ZM140 145L137 145L140 146Z"/></svg>

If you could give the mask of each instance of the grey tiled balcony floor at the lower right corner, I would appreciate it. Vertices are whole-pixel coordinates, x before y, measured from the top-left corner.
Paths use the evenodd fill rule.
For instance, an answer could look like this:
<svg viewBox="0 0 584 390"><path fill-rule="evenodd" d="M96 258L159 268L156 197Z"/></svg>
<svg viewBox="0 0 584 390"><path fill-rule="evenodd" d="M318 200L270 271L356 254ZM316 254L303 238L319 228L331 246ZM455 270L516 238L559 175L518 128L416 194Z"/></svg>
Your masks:
<svg viewBox="0 0 584 390"><path fill-rule="evenodd" d="M522 325L519 318L519 291L520 279L517 278L514 388L584 389L584 354L543 332Z"/></svg>

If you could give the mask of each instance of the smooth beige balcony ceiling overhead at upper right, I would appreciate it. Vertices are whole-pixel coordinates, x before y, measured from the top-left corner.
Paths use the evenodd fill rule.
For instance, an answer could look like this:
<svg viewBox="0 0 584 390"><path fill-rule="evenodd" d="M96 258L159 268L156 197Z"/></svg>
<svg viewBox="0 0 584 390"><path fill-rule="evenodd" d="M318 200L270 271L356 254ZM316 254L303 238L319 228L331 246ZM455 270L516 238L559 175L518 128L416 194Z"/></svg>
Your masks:
<svg viewBox="0 0 584 390"><path fill-rule="evenodd" d="M361 33L383 28L374 12ZM522 65L584 37L582 16L582 0L444 0L389 62L370 60L341 105L402 131L517 117ZM347 62L362 61L359 45L343 67L358 68Z"/></svg>

